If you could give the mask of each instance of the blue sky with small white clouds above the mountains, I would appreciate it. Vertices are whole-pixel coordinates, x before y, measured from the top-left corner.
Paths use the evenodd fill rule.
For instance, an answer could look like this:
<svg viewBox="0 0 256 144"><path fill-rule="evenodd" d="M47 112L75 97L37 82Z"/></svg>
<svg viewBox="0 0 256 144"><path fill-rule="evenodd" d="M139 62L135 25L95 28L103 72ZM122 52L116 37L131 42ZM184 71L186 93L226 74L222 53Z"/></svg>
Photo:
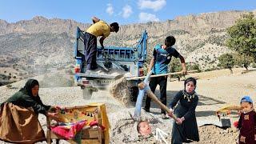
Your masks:
<svg viewBox="0 0 256 144"><path fill-rule="evenodd" d="M43 16L91 23L96 16L126 25L226 10L256 10L256 0L0 0L0 19L6 22Z"/></svg>

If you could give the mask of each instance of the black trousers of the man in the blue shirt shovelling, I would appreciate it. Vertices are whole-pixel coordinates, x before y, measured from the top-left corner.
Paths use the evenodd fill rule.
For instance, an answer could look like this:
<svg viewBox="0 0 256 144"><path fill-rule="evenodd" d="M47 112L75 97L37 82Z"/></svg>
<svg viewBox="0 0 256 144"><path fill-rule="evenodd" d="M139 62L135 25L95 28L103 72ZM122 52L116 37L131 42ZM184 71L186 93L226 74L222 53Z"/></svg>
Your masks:
<svg viewBox="0 0 256 144"><path fill-rule="evenodd" d="M157 86L160 86L160 101L166 105L166 86L167 86L167 77L162 76L162 77L154 77L150 78L150 89L154 93L155 89ZM146 105L145 109L150 110L150 102L151 98L146 97ZM165 110L161 109L162 114L166 114Z"/></svg>

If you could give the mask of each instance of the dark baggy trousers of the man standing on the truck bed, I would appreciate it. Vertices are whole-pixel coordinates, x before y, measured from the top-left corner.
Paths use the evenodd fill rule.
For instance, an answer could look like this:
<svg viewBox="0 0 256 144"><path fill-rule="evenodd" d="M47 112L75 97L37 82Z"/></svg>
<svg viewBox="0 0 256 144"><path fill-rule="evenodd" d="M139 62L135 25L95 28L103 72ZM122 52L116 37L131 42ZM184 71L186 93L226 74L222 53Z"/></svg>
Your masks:
<svg viewBox="0 0 256 144"><path fill-rule="evenodd" d="M95 70L98 68L97 62L96 62L97 38L93 34L85 33L84 45L85 45L86 69Z"/></svg>

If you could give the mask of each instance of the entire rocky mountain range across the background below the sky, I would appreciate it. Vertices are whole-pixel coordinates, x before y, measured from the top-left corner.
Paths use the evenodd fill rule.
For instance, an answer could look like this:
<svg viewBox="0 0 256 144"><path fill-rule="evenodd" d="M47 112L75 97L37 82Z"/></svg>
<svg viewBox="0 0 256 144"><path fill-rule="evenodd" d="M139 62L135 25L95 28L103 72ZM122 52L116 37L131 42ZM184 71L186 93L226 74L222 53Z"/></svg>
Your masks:
<svg viewBox="0 0 256 144"><path fill-rule="evenodd" d="M256 10L253 12L256 14ZM223 11L187 15L166 22L123 25L117 34L106 38L105 45L135 46L142 31L147 30L150 55L155 44L162 43L167 35L174 35L175 47L186 57L186 62L198 63L202 69L207 69L216 66L218 56L229 51L224 46L226 28L246 13ZM3 67L12 67L34 74L74 64L77 26L85 30L90 24L41 16L14 23L0 20L0 72Z"/></svg>

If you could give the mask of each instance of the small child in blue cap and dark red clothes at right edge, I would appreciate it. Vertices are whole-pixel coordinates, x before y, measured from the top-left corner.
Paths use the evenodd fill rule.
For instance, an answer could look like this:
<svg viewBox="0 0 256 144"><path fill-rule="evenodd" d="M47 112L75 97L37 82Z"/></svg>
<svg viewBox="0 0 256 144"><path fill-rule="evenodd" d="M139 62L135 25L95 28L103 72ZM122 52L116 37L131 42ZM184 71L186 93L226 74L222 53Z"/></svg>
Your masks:
<svg viewBox="0 0 256 144"><path fill-rule="evenodd" d="M254 111L253 101L249 96L241 99L242 113L238 121L240 130L238 143L256 143L256 112Z"/></svg>

